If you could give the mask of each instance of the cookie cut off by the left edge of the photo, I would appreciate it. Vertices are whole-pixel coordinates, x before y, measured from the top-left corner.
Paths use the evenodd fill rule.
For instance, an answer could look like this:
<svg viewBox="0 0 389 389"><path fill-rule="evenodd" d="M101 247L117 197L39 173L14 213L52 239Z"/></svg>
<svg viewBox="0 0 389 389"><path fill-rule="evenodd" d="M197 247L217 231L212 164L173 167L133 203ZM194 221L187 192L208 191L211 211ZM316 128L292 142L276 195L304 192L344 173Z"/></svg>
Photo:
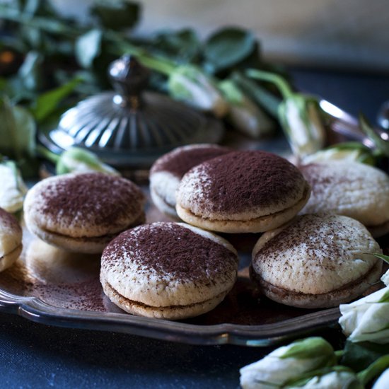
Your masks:
<svg viewBox="0 0 389 389"><path fill-rule="evenodd" d="M0 208L0 272L13 265L22 248L20 224L15 216Z"/></svg>

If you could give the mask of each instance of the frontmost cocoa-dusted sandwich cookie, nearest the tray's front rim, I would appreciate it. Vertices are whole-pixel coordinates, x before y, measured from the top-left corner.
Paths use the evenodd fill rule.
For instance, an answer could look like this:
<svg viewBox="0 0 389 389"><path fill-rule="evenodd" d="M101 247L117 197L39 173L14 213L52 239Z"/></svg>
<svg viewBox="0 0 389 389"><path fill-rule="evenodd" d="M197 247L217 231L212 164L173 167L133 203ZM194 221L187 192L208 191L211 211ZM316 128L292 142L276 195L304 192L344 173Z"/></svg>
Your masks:
<svg viewBox="0 0 389 389"><path fill-rule="evenodd" d="M235 284L238 255L226 240L185 223L124 231L103 251L100 281L134 315L178 320L217 306Z"/></svg>

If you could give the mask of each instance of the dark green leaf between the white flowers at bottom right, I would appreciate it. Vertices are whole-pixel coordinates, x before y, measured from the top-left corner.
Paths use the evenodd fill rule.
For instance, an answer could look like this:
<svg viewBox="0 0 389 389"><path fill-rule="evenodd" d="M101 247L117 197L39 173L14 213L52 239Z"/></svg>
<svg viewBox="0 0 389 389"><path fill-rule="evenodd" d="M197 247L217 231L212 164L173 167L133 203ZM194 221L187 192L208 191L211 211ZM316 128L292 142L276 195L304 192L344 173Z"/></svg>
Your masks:
<svg viewBox="0 0 389 389"><path fill-rule="evenodd" d="M367 368L376 359L385 354L388 354L388 344L373 342L354 343L347 340L340 363L358 372L364 370L364 368Z"/></svg>

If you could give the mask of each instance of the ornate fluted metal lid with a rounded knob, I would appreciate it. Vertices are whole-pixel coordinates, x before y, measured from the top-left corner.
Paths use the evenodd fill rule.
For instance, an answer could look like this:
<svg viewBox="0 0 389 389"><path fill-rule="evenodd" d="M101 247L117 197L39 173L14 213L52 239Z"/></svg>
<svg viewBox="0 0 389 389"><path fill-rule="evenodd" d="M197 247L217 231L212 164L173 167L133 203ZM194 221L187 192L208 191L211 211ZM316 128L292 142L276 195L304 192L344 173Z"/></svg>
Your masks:
<svg viewBox="0 0 389 389"><path fill-rule="evenodd" d="M146 168L158 156L192 143L216 143L223 125L194 108L144 91L149 71L124 56L108 69L115 91L103 92L64 112L57 129L40 134L54 152L84 147L117 167Z"/></svg>

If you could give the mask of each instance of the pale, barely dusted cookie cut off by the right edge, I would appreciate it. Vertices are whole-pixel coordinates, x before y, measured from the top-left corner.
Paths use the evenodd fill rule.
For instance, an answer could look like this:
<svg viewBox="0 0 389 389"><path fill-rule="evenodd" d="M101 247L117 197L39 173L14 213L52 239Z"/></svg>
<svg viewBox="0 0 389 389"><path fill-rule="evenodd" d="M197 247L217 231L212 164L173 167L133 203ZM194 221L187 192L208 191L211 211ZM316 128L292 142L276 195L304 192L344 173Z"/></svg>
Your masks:
<svg viewBox="0 0 389 389"><path fill-rule="evenodd" d="M320 161L299 168L312 187L301 214L350 216L376 238L389 232L389 176L382 170L354 161Z"/></svg>

